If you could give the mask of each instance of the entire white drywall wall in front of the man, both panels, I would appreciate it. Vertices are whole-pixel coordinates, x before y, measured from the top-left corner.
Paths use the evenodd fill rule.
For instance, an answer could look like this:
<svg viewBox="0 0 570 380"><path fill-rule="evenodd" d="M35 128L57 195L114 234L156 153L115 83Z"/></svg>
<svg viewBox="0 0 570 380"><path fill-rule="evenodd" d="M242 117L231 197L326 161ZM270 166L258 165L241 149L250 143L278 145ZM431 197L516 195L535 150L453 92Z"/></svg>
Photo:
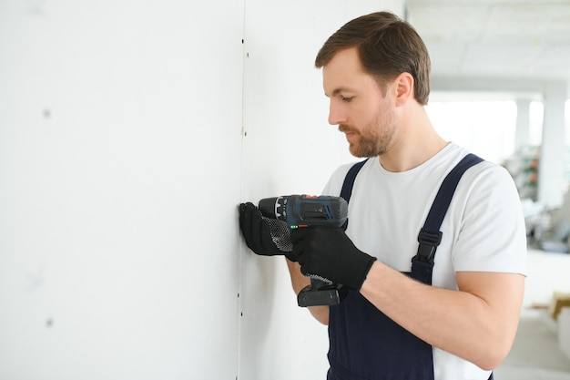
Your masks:
<svg viewBox="0 0 570 380"><path fill-rule="evenodd" d="M380 3L0 2L0 379L324 378L237 205L352 160L312 62Z"/></svg>

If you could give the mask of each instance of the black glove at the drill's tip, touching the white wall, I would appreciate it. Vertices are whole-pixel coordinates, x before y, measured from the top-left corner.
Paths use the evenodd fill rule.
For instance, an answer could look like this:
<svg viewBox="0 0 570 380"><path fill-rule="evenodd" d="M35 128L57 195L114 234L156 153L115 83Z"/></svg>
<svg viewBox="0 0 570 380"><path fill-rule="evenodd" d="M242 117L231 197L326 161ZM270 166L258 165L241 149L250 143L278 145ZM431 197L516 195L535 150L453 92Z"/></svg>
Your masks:
<svg viewBox="0 0 570 380"><path fill-rule="evenodd" d="M251 251L261 256L285 255L291 262L297 261L287 223L263 217L253 203L239 205L239 228Z"/></svg>

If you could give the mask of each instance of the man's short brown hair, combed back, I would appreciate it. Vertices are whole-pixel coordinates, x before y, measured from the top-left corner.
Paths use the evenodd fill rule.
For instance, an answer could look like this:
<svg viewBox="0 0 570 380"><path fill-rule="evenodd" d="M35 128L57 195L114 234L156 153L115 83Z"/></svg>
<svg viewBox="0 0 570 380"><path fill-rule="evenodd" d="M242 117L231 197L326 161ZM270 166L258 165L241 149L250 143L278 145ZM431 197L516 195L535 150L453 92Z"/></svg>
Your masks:
<svg viewBox="0 0 570 380"><path fill-rule="evenodd" d="M415 99L426 105L430 96L430 56L413 26L390 12L362 15L349 21L321 47L315 67L331 62L341 50L357 47L364 71L385 87L406 72L413 77Z"/></svg>

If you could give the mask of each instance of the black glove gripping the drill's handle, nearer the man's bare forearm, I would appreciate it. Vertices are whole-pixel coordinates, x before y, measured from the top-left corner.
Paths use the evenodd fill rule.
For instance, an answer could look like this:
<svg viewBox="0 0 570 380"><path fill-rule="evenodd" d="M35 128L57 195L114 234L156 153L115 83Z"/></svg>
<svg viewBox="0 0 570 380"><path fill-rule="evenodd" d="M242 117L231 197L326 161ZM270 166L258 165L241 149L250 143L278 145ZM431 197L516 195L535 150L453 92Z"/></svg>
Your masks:
<svg viewBox="0 0 570 380"><path fill-rule="evenodd" d="M361 252L341 228L300 228L291 231L293 253L304 275L317 275L360 291L376 261Z"/></svg>

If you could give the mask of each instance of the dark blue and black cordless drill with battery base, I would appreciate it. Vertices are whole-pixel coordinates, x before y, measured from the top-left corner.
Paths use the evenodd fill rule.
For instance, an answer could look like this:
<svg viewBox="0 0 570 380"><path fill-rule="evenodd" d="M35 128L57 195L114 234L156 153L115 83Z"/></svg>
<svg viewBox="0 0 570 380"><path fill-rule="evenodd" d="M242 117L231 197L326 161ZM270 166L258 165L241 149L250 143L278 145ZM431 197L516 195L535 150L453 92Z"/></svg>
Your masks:
<svg viewBox="0 0 570 380"><path fill-rule="evenodd" d="M260 200L261 215L285 221L290 230L298 228L342 227L348 219L348 203L328 195L288 195ZM310 278L310 285L297 296L301 307L335 305L348 294L341 284Z"/></svg>

